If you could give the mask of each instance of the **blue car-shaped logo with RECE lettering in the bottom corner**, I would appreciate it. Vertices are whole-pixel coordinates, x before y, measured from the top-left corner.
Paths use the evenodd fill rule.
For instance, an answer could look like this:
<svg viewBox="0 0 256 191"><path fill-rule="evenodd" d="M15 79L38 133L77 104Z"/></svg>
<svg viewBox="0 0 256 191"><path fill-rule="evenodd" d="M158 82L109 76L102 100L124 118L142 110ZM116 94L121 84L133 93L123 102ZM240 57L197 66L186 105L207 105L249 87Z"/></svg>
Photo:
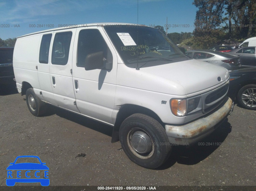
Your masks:
<svg viewBox="0 0 256 191"><path fill-rule="evenodd" d="M20 159L33 159L37 163L22 162L19 163L17 160ZM43 163L38 156L18 156L7 170L7 186L14 186L16 182L22 183L37 183L40 182L42 186L48 186L50 179L48 179L48 170L46 163ZM35 172L32 172L34 171ZM14 173L16 171L16 173ZM25 178L26 177L26 178Z"/></svg>

